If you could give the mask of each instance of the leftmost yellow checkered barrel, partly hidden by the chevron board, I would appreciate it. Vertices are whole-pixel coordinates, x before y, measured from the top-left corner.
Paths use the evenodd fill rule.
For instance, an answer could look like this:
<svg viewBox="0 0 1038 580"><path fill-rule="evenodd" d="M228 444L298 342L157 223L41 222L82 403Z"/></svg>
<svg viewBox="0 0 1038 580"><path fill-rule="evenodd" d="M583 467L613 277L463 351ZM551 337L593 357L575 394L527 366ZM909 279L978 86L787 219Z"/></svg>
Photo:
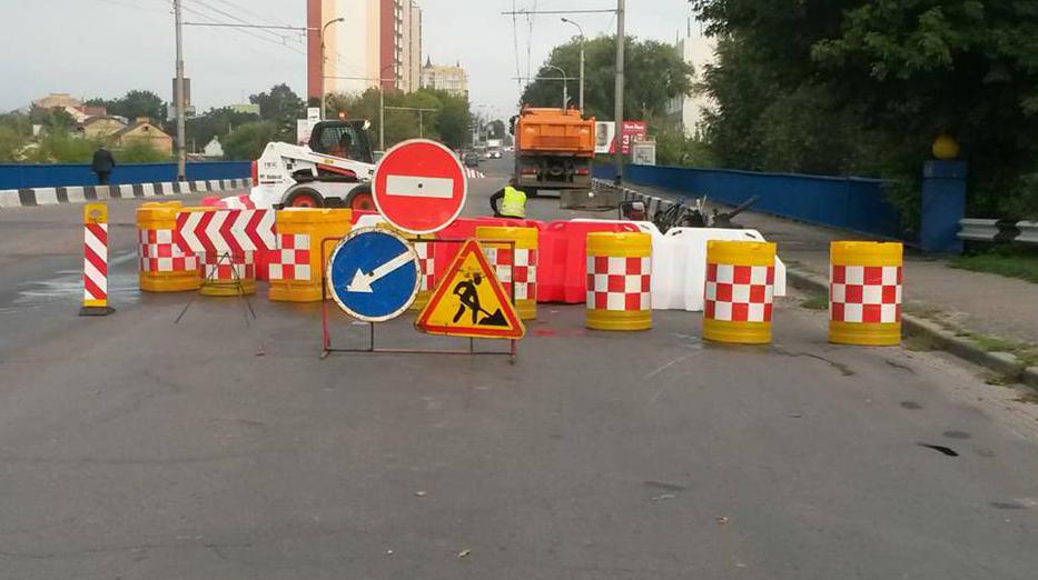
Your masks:
<svg viewBox="0 0 1038 580"><path fill-rule="evenodd" d="M138 282L146 292L198 290L198 258L174 240L179 201L148 202L137 208Z"/></svg>

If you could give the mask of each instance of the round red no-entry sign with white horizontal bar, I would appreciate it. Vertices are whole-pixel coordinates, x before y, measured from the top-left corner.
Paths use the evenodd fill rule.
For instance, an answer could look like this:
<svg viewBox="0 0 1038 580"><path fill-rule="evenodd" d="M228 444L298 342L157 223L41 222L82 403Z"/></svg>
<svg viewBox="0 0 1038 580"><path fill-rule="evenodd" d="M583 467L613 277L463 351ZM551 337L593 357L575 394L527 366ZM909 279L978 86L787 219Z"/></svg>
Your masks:
<svg viewBox="0 0 1038 580"><path fill-rule="evenodd" d="M462 212L468 181L453 151L436 141L413 139L382 158L372 192L386 221L411 233L433 233Z"/></svg>

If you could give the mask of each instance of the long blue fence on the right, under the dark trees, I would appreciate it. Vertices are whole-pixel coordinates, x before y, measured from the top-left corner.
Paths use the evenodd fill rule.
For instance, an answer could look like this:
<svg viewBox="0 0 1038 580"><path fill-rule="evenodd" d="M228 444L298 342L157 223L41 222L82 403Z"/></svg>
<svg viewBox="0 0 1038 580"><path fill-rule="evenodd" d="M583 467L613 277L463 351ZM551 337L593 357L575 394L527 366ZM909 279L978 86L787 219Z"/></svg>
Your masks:
<svg viewBox="0 0 1038 580"><path fill-rule="evenodd" d="M612 167L595 167L600 179L613 174ZM901 236L898 212L877 179L626 166L625 180L733 206L757 196L753 211L889 238Z"/></svg>

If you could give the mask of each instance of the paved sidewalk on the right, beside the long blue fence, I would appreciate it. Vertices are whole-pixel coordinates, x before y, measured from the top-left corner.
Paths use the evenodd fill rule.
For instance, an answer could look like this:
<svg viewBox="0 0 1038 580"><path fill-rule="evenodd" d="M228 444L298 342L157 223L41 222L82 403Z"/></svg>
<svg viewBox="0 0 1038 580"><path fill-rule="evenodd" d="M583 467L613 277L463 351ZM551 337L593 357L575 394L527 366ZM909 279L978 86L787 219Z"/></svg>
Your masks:
<svg viewBox="0 0 1038 580"><path fill-rule="evenodd" d="M675 199L666 190L639 184L637 191ZM762 213L744 212L737 223L759 230L779 244L792 268L829 276L829 242L868 239L859 233L811 226ZM997 274L949 268L948 260L907 252L906 311L949 328L1038 344L1038 284Z"/></svg>

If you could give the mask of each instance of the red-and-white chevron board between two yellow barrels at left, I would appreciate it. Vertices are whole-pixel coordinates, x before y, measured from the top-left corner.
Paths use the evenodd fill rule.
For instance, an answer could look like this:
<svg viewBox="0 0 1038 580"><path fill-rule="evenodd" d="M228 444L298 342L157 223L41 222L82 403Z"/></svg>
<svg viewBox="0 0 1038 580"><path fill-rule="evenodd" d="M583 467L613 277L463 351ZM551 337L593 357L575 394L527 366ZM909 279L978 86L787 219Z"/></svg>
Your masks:
<svg viewBox="0 0 1038 580"><path fill-rule="evenodd" d="M177 246L185 253L277 249L274 210L185 211L177 214Z"/></svg>

